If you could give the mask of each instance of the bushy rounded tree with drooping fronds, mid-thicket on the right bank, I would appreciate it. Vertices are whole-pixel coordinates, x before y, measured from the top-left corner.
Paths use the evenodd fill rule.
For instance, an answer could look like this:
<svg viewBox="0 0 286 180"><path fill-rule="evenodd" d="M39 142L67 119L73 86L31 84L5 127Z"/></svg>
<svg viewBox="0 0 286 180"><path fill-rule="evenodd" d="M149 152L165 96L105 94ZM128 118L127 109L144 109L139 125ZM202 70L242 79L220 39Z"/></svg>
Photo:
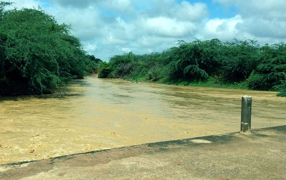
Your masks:
<svg viewBox="0 0 286 180"><path fill-rule="evenodd" d="M163 61L168 64L169 78L206 80L219 67L214 60L222 49L218 39L181 43L179 47L172 47L162 55Z"/></svg>

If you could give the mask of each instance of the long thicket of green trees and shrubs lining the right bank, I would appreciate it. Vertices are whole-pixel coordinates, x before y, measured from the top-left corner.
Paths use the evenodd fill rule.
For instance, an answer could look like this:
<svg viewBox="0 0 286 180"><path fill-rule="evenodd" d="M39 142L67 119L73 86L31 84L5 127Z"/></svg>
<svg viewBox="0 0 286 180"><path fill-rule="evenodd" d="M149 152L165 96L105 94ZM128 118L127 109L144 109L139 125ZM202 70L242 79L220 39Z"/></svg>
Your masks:
<svg viewBox="0 0 286 180"><path fill-rule="evenodd" d="M115 55L104 77L165 84L280 91L286 96L286 45L254 40L180 41L162 53ZM101 73L101 72L100 72Z"/></svg>

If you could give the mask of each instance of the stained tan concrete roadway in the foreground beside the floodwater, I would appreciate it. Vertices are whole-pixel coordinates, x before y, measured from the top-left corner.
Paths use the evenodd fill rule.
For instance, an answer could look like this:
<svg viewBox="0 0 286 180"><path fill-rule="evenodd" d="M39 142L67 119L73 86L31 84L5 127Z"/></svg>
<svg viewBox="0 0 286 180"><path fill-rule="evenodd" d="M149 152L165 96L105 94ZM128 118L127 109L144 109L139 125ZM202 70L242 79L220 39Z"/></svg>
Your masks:
<svg viewBox="0 0 286 180"><path fill-rule="evenodd" d="M286 125L0 165L0 179L286 179Z"/></svg>

